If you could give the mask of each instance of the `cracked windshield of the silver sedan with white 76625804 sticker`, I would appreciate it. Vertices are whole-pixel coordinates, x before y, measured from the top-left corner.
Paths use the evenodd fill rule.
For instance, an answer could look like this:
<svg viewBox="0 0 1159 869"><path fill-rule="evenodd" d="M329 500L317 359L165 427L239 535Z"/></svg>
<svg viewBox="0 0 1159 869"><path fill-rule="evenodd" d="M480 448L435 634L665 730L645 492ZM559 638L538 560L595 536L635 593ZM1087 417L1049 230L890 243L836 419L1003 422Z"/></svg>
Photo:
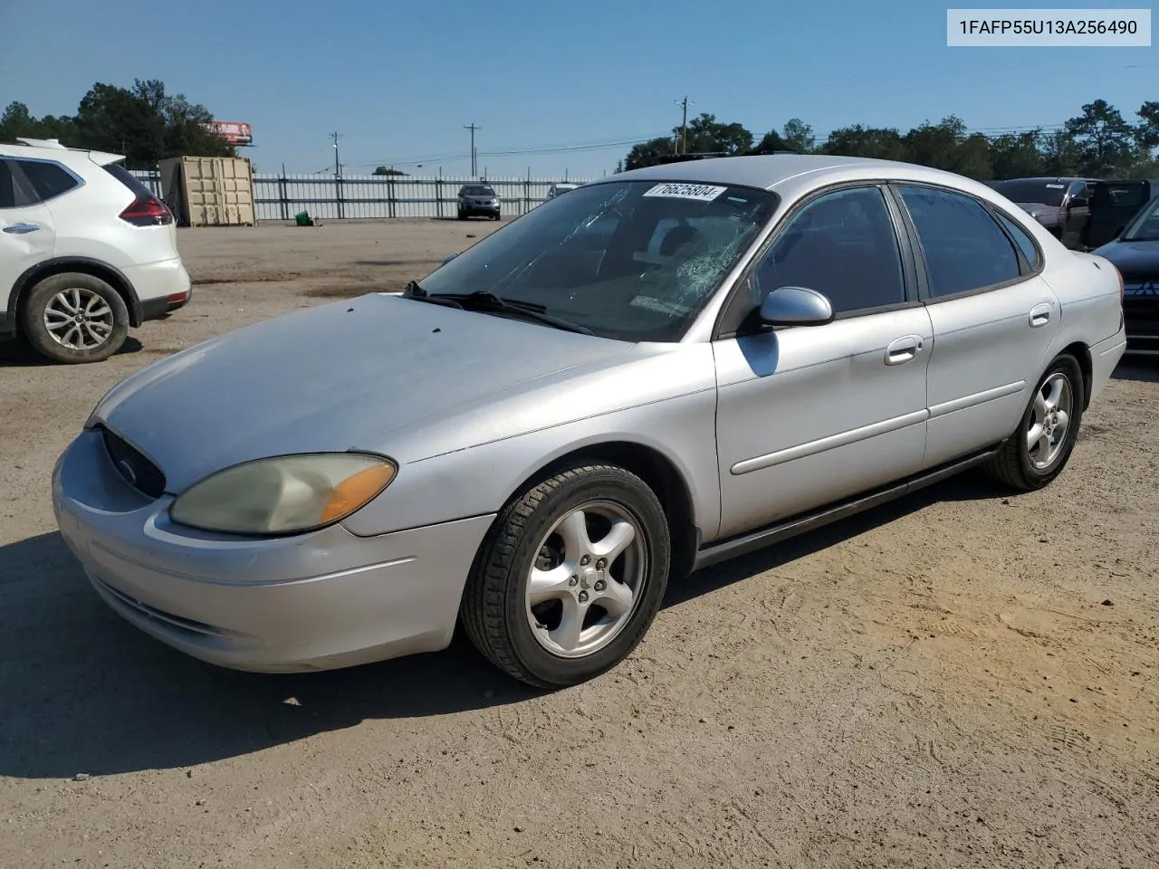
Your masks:
<svg viewBox="0 0 1159 869"><path fill-rule="evenodd" d="M469 248L422 290L487 291L604 337L675 341L775 205L743 187L593 183Z"/></svg>

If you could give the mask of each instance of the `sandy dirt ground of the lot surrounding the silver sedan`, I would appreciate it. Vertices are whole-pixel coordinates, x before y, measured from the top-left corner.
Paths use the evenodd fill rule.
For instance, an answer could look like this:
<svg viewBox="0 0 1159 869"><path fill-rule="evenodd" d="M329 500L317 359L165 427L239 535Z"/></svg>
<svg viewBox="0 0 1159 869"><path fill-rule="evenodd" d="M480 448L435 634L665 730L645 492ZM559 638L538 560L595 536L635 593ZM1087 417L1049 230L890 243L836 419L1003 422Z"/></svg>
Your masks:
<svg viewBox="0 0 1159 869"><path fill-rule="evenodd" d="M1159 366L1047 490L926 490L673 586L555 694L459 637L260 677L141 635L56 533L101 395L183 346L401 289L498 225L182 231L192 302L92 366L0 349L0 867L1154 867Z"/></svg>

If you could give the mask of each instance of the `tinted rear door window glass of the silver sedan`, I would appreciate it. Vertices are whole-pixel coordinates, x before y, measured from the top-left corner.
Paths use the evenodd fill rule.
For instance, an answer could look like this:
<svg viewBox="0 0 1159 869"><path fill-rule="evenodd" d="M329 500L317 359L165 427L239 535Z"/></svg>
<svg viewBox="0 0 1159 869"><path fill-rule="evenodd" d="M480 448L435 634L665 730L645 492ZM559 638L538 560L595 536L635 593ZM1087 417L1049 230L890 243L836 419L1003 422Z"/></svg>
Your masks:
<svg viewBox="0 0 1159 869"><path fill-rule="evenodd" d="M910 184L898 191L918 231L931 295L983 290L1021 276L1014 246L979 202Z"/></svg>

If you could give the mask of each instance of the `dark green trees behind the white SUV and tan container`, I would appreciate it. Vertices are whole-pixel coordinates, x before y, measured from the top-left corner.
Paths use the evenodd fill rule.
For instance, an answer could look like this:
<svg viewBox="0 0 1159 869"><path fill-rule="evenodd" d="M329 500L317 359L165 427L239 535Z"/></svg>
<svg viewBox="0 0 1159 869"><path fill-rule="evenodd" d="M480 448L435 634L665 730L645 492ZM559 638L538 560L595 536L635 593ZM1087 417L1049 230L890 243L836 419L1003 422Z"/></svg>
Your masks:
<svg viewBox="0 0 1159 869"><path fill-rule="evenodd" d="M75 115L37 118L21 102L0 115L0 141L17 137L59 139L63 145L124 154L131 169L151 169L170 156L236 156L236 149L207 130L213 115L184 94L168 94L150 79L131 88L96 82L81 98Z"/></svg>

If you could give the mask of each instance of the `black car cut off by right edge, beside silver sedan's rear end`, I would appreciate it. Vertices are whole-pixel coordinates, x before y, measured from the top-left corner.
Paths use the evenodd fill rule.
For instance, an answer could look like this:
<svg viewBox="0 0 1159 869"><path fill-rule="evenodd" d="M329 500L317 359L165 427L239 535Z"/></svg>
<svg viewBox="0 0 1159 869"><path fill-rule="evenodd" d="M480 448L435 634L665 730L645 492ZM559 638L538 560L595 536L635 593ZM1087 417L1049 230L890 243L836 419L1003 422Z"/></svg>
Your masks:
<svg viewBox="0 0 1159 869"><path fill-rule="evenodd" d="M1123 276L1127 352L1159 356L1159 196L1114 241L1094 251Z"/></svg>

